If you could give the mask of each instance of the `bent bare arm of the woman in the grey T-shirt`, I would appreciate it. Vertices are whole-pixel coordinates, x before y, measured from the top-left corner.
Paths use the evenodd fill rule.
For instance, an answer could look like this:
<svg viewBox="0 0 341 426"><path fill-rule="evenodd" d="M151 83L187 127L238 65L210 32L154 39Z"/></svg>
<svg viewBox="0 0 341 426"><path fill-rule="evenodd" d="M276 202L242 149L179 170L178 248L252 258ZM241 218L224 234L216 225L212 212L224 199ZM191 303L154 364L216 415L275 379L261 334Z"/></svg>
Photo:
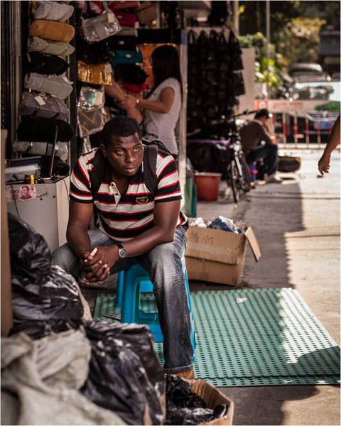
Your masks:
<svg viewBox="0 0 341 426"><path fill-rule="evenodd" d="M149 101L148 99L138 99L132 95L128 95L126 99L121 102L121 107L128 111L129 108L136 107L141 109L148 109L162 114L168 114L171 111L175 98L173 87L165 87L161 90L160 99Z"/></svg>

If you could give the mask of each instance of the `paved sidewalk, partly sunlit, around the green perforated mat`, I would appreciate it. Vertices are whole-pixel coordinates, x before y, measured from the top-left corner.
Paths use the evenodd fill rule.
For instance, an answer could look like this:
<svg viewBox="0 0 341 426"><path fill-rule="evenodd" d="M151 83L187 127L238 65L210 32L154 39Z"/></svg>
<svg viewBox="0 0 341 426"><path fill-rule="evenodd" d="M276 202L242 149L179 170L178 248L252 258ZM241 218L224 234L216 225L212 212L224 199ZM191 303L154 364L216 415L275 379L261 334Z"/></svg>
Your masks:
<svg viewBox="0 0 341 426"><path fill-rule="evenodd" d="M250 224L263 256L255 263L248 250L238 287L296 288L340 345L340 151L332 155L330 174L317 178L321 153L298 151L302 168L281 185L259 185L238 207L199 202L197 216L222 214ZM339 386L221 390L235 402L234 425L340 425Z"/></svg>

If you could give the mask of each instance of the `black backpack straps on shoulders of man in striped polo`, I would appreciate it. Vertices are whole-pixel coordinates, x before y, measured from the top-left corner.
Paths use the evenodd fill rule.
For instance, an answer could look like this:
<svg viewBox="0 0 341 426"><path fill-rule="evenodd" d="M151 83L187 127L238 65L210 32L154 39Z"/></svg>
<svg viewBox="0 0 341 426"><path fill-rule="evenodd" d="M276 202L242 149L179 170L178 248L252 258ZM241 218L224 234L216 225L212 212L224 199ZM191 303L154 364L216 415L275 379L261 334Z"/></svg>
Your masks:
<svg viewBox="0 0 341 426"><path fill-rule="evenodd" d="M146 141L145 139L142 139L142 142L144 143L144 182L148 191L150 191L154 196L158 189L158 176L156 175L156 160L158 152L165 156L171 155L171 153L161 141ZM108 167L107 158L104 157L100 148L97 149L97 152L94 155L92 165L93 168L90 174L90 184L92 198L94 199L104 180L105 170Z"/></svg>

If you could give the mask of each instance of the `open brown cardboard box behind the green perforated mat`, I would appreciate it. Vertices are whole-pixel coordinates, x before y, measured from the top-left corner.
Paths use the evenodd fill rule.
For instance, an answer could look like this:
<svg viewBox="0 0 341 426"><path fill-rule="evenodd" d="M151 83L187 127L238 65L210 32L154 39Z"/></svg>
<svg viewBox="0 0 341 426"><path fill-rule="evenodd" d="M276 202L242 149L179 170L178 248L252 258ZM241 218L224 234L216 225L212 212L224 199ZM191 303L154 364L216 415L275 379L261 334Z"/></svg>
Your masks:
<svg viewBox="0 0 341 426"><path fill-rule="evenodd" d="M233 234L190 226L187 239L186 266L188 278L192 280L236 285L243 272L247 243L257 262L261 257L261 248L251 227L244 234Z"/></svg>

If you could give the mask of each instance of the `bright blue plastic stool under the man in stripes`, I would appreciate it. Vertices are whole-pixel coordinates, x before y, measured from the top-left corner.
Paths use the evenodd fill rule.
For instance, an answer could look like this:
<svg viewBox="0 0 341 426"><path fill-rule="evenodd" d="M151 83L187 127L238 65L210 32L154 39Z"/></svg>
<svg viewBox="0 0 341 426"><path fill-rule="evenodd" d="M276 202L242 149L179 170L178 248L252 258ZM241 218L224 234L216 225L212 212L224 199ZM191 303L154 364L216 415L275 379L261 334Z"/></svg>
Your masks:
<svg viewBox="0 0 341 426"><path fill-rule="evenodd" d="M191 342L193 344L193 349L195 349L197 345L195 340L192 302L190 300L188 275L184 262L183 270L185 273L188 306L190 309ZM139 309L141 293L153 293L153 283L151 283L148 271L139 264L131 266L126 271L121 271L117 279L116 303L118 307L121 306L121 322L147 324L151 329L155 341L163 342L163 334L158 320L158 313L144 312Z"/></svg>

